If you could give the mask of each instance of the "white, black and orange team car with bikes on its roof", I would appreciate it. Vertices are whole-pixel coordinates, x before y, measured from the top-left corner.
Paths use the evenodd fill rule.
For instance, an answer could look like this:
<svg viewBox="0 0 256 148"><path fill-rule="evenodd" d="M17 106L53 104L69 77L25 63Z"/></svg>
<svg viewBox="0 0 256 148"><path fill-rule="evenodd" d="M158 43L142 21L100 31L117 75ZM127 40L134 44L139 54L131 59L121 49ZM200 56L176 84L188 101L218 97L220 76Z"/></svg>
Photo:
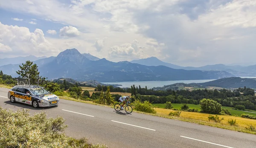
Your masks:
<svg viewBox="0 0 256 148"><path fill-rule="evenodd" d="M34 108L58 105L60 100L55 94L37 85L16 85L8 92L12 103L21 102Z"/></svg>

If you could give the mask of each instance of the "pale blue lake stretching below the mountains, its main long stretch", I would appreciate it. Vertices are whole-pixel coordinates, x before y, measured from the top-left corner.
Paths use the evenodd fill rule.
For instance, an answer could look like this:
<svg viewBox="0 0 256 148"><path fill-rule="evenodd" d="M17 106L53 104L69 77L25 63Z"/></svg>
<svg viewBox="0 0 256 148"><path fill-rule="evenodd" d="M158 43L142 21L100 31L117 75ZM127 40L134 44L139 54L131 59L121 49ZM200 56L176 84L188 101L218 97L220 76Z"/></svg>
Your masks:
<svg viewBox="0 0 256 148"><path fill-rule="evenodd" d="M175 83L204 83L208 81L213 81L215 79L208 79L208 80L179 80L179 81L127 81L127 82L102 82L103 84L120 84L122 86L118 87L131 87L134 85L135 87L142 87L145 88L153 88L153 87L163 87L164 85L170 85L170 84L175 84Z"/></svg>

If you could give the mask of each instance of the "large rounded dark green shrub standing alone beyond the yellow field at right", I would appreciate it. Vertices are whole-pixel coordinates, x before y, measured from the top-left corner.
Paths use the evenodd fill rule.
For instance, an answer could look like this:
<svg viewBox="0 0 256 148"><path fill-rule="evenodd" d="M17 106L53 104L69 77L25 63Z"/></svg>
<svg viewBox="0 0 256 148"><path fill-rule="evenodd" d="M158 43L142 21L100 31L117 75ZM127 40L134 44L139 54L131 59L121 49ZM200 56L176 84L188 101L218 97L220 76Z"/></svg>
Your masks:
<svg viewBox="0 0 256 148"><path fill-rule="evenodd" d="M200 101L202 113L219 114L221 112L221 104L211 99L202 99Z"/></svg>

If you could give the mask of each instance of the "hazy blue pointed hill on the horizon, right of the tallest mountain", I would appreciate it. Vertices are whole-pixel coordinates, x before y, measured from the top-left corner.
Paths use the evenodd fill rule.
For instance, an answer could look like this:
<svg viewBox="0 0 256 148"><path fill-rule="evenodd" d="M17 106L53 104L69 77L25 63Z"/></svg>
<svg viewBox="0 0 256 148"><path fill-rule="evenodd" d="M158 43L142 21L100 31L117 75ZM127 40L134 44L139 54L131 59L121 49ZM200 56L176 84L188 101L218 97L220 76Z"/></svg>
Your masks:
<svg viewBox="0 0 256 148"><path fill-rule="evenodd" d="M146 66L160 66L160 65L162 65L162 66L166 66L166 67L170 67L170 68L174 68L174 69L183 69L183 67L181 67L181 66L163 62L163 61L159 60L156 57L143 58L143 59L140 59L140 60L133 60L133 61L131 61L131 63L137 63L137 64L141 64L141 65L146 65Z"/></svg>

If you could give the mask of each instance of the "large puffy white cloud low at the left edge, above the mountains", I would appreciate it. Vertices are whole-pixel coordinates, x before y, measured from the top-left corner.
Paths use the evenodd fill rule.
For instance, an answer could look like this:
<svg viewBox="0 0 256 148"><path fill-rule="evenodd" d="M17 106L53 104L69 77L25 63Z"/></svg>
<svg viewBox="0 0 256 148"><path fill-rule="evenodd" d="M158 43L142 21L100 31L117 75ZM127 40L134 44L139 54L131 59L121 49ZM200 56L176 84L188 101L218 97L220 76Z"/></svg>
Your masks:
<svg viewBox="0 0 256 148"><path fill-rule="evenodd" d="M59 51L45 37L41 29L30 32L26 27L9 26L0 22L0 42L5 51L1 55L46 55L52 56ZM3 47L1 45L1 47ZM11 50L10 50L11 49Z"/></svg>

